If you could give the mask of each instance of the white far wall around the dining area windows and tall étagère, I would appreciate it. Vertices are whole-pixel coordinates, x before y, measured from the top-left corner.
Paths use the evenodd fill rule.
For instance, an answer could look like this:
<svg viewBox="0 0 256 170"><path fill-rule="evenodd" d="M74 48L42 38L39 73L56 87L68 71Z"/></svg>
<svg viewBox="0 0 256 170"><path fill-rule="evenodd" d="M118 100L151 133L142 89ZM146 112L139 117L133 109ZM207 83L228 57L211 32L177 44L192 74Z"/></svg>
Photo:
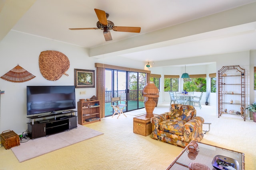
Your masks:
<svg viewBox="0 0 256 170"><path fill-rule="evenodd" d="M190 64L190 63L211 63L206 65L199 66L186 66L186 72L188 74L206 74L207 76L210 73L217 73L217 92L218 92L218 70L222 68L222 66L231 66L231 65L240 65L240 67L244 68L246 71L246 106L250 103L256 101L255 99L255 91L253 90L253 66L256 65L256 51L243 51L237 53L228 53L228 54L218 54L218 55L210 55L210 56L201 56L201 57L191 57L182 60L182 64ZM156 63L156 62L155 62ZM166 61L165 64L173 65L177 64L177 61ZM177 66L164 66L164 67L152 67L150 68L152 74L161 74L162 80L161 83L164 84L164 74L171 75L182 75L185 68L180 68ZM160 71L161 70L161 71ZM180 85L180 88L182 86ZM164 92L163 87L160 90L160 99L159 102L170 102L170 96L168 92ZM204 100L203 100L204 99ZM202 97L202 104L205 102L205 94ZM210 94L210 105L216 106L216 113L218 111L218 93ZM217 113L218 114L218 113ZM232 116L232 115L231 115ZM237 116L235 116L237 117ZM246 110L246 117L250 119L252 117L252 113L249 113Z"/></svg>

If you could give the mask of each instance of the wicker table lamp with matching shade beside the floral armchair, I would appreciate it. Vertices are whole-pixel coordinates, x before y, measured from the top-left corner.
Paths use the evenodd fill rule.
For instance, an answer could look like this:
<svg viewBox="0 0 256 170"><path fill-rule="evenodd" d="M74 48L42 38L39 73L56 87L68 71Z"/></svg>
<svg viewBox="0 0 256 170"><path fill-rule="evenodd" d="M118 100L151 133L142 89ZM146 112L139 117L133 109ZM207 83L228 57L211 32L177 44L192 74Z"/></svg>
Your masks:
<svg viewBox="0 0 256 170"><path fill-rule="evenodd" d="M142 95L144 97L147 97L148 99L144 102L145 109L146 109L146 115L145 117L151 118L154 117L153 111L156 107L156 102L153 100L153 98L159 97L159 90L155 86L154 82L149 82L142 90Z"/></svg>

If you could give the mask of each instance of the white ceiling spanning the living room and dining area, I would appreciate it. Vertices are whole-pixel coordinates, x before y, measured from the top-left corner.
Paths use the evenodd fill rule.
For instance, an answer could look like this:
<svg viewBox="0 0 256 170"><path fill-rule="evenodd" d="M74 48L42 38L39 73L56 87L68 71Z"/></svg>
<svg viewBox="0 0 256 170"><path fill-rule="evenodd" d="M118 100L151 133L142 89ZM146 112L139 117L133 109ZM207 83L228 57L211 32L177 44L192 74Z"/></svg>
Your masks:
<svg viewBox="0 0 256 170"><path fill-rule="evenodd" d="M11 29L88 48L91 57L118 55L137 61L165 61L256 49L255 22L172 39L161 35L163 28L252 2L256 0L35 0ZM0 10L3 6L14 8L6 0ZM68 29L96 27L94 8L108 13L115 26L141 27L141 32L111 31L113 40L106 42L100 29ZM150 36L156 38L146 42Z"/></svg>

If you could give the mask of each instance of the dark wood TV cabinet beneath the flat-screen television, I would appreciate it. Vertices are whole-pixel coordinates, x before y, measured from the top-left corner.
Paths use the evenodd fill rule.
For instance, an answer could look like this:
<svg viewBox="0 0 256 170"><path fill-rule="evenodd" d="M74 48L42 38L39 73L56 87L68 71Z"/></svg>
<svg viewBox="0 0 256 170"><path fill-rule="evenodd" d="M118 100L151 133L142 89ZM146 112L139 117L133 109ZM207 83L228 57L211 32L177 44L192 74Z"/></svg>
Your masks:
<svg viewBox="0 0 256 170"><path fill-rule="evenodd" d="M56 113L39 116L29 116L28 131L31 133L31 139L38 137L47 137L55 133L69 131L77 128L77 116L75 110L67 113ZM45 122L39 123L38 120Z"/></svg>

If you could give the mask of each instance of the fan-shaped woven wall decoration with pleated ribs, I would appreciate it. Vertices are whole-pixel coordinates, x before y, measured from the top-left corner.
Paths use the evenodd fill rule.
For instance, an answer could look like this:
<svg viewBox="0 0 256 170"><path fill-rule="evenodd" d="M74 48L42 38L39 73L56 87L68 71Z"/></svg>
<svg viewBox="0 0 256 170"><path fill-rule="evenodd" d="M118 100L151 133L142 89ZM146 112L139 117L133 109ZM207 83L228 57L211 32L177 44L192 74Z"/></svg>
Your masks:
<svg viewBox="0 0 256 170"><path fill-rule="evenodd" d="M36 76L19 66L19 64L3 76L1 76L2 79L15 83L26 82L35 77Z"/></svg>

